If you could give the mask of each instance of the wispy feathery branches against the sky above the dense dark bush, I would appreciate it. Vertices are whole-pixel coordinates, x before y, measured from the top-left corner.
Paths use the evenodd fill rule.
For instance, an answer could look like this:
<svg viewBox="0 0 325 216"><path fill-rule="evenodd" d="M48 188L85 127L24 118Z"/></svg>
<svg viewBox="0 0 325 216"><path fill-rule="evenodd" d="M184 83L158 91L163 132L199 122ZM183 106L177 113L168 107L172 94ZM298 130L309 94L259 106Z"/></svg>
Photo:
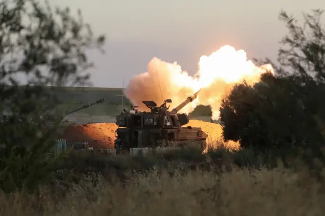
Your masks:
<svg viewBox="0 0 325 216"><path fill-rule="evenodd" d="M280 20L286 23L289 34L281 40L278 73L313 77L315 81L325 82L325 29L320 23L322 10L303 13L304 24L281 11Z"/></svg>

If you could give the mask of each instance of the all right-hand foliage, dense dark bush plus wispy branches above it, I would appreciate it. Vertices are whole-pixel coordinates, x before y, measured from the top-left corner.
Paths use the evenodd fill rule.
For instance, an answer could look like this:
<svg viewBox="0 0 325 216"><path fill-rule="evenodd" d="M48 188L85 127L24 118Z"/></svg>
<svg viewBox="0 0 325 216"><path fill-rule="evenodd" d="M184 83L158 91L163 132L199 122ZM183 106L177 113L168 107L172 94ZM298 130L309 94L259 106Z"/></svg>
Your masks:
<svg viewBox="0 0 325 216"><path fill-rule="evenodd" d="M253 86L234 86L220 107L225 140L258 152L296 154L308 149L321 156L325 120L325 31L322 11L304 14L303 27L281 12L289 34L279 50L276 76L266 73ZM264 62L270 62L266 60ZM317 119L317 121L315 121Z"/></svg>

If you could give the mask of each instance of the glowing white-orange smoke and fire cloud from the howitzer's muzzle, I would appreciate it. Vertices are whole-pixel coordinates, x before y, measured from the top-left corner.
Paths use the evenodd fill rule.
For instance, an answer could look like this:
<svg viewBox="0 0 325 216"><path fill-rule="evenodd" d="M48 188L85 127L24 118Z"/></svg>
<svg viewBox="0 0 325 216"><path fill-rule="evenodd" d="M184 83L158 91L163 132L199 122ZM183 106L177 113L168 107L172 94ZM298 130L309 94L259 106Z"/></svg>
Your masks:
<svg viewBox="0 0 325 216"><path fill-rule="evenodd" d="M265 68L273 71L271 65L255 66L246 60L244 51L236 51L230 46L201 57L199 66L198 73L191 77L177 62L168 63L154 57L148 63L148 71L136 75L129 82L125 96L141 111L148 111L143 100L153 100L160 105L164 99L172 99L171 110L202 88L197 99L188 103L179 113L188 114L200 104L210 105L212 119L216 120L219 118L221 98L231 91L235 83L245 79L248 84L253 84L266 72Z"/></svg>

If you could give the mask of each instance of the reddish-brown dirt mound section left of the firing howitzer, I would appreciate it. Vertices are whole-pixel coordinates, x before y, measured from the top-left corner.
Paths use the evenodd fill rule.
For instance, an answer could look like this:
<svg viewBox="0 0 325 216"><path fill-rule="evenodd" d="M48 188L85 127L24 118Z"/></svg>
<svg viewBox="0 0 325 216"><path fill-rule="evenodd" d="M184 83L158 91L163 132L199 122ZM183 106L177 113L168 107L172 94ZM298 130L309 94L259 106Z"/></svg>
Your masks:
<svg viewBox="0 0 325 216"><path fill-rule="evenodd" d="M94 149L113 148L116 129L115 123L73 125L64 129L61 138L67 142L88 142Z"/></svg>

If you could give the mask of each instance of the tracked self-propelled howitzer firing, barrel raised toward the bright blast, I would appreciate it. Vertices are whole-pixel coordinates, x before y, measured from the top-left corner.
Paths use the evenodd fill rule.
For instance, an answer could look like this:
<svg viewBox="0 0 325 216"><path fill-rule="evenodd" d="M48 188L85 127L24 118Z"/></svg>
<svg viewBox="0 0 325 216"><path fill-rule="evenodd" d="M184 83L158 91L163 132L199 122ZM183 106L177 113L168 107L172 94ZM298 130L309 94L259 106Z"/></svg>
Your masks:
<svg viewBox="0 0 325 216"><path fill-rule="evenodd" d="M130 111L123 109L116 116L114 148L117 154L129 152L131 148L157 148L195 146L202 151L206 148L208 135L200 127L182 127L189 122L185 113L178 112L189 102L197 98L200 90L187 97L182 103L169 111L167 103L171 99L164 100L160 106L154 101L142 101L150 112L139 112L138 106L132 106Z"/></svg>

